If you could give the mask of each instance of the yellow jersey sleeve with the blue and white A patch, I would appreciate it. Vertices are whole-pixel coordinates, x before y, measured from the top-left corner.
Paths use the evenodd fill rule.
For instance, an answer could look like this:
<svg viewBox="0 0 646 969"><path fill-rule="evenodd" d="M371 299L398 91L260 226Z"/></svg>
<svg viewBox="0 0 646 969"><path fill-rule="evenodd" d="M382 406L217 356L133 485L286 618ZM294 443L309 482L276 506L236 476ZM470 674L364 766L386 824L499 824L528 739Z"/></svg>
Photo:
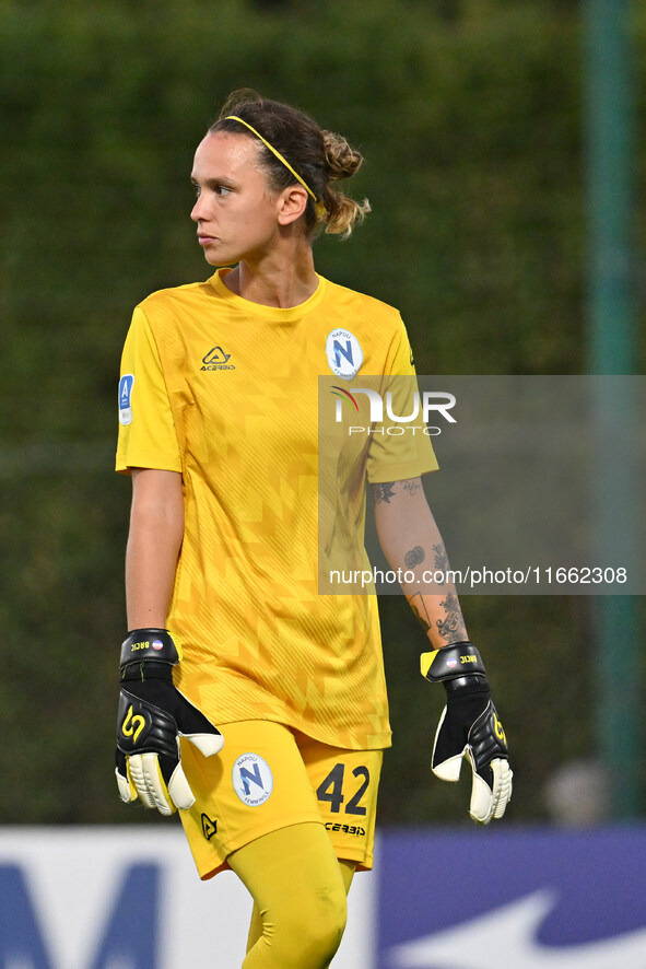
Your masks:
<svg viewBox="0 0 646 969"><path fill-rule="evenodd" d="M181 456L157 346L138 306L126 337L119 380L116 470L181 471Z"/></svg>

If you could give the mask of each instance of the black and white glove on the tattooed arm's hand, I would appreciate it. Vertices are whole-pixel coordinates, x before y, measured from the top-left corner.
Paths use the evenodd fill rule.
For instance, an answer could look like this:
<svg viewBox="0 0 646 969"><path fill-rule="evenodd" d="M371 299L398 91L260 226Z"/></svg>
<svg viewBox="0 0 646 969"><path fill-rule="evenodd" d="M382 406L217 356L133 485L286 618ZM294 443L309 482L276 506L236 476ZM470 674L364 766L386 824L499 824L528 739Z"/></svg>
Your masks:
<svg viewBox="0 0 646 969"><path fill-rule="evenodd" d="M472 772L469 814L480 825L502 818L512 797L513 772L478 650L471 643L454 643L422 653L421 667L427 680L444 682L447 697L433 745L433 773L455 782L467 759Z"/></svg>

